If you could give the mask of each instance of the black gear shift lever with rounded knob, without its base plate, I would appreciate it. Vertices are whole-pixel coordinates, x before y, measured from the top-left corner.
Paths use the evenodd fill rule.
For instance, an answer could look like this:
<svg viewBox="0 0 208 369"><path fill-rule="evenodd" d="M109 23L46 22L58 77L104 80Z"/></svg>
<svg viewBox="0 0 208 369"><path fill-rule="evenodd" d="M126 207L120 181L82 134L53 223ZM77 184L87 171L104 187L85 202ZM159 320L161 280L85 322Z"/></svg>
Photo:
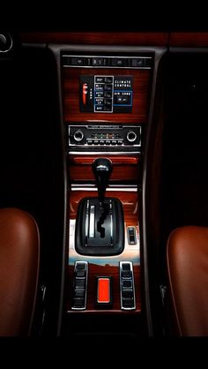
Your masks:
<svg viewBox="0 0 208 369"><path fill-rule="evenodd" d="M103 207L104 204L105 192L112 170L112 162L107 158L98 158L95 159L93 162L93 175L98 187L98 198L100 207Z"/></svg>

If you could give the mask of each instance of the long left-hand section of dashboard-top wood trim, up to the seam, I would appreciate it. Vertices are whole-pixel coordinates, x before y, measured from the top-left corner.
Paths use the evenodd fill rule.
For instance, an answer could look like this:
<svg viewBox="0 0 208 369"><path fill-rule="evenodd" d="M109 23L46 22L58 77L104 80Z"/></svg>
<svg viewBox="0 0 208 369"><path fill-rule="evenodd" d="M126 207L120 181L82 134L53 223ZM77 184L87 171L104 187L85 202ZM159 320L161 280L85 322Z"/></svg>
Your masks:
<svg viewBox="0 0 208 369"><path fill-rule="evenodd" d="M33 32L19 33L22 42L81 45L167 46L167 32Z"/></svg>

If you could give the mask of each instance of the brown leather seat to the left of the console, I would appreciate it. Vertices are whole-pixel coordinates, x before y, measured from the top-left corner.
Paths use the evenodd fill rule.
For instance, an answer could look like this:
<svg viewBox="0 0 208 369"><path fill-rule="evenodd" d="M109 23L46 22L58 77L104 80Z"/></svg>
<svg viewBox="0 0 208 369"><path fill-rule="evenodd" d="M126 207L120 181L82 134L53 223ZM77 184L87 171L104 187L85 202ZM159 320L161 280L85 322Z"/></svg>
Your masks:
<svg viewBox="0 0 208 369"><path fill-rule="evenodd" d="M30 335L39 275L40 238L33 217L0 209L0 335Z"/></svg>

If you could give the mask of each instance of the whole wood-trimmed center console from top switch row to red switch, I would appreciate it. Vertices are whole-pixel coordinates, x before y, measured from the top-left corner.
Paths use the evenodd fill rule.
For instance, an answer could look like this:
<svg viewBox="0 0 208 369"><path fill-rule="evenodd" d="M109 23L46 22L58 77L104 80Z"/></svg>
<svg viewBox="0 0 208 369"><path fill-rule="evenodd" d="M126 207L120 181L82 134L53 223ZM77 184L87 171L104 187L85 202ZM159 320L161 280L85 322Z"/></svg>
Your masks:
<svg viewBox="0 0 208 369"><path fill-rule="evenodd" d="M139 314L139 195L151 52L61 51L68 314Z"/></svg>

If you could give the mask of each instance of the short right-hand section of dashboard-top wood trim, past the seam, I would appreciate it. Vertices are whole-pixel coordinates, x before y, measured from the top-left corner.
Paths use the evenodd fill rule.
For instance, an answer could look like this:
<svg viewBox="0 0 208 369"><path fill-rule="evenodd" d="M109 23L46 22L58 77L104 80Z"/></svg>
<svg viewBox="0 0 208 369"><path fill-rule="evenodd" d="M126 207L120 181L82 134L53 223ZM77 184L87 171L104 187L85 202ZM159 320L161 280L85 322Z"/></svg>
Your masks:
<svg viewBox="0 0 208 369"><path fill-rule="evenodd" d="M169 46L205 48L208 46L208 32L172 32L170 34Z"/></svg>

